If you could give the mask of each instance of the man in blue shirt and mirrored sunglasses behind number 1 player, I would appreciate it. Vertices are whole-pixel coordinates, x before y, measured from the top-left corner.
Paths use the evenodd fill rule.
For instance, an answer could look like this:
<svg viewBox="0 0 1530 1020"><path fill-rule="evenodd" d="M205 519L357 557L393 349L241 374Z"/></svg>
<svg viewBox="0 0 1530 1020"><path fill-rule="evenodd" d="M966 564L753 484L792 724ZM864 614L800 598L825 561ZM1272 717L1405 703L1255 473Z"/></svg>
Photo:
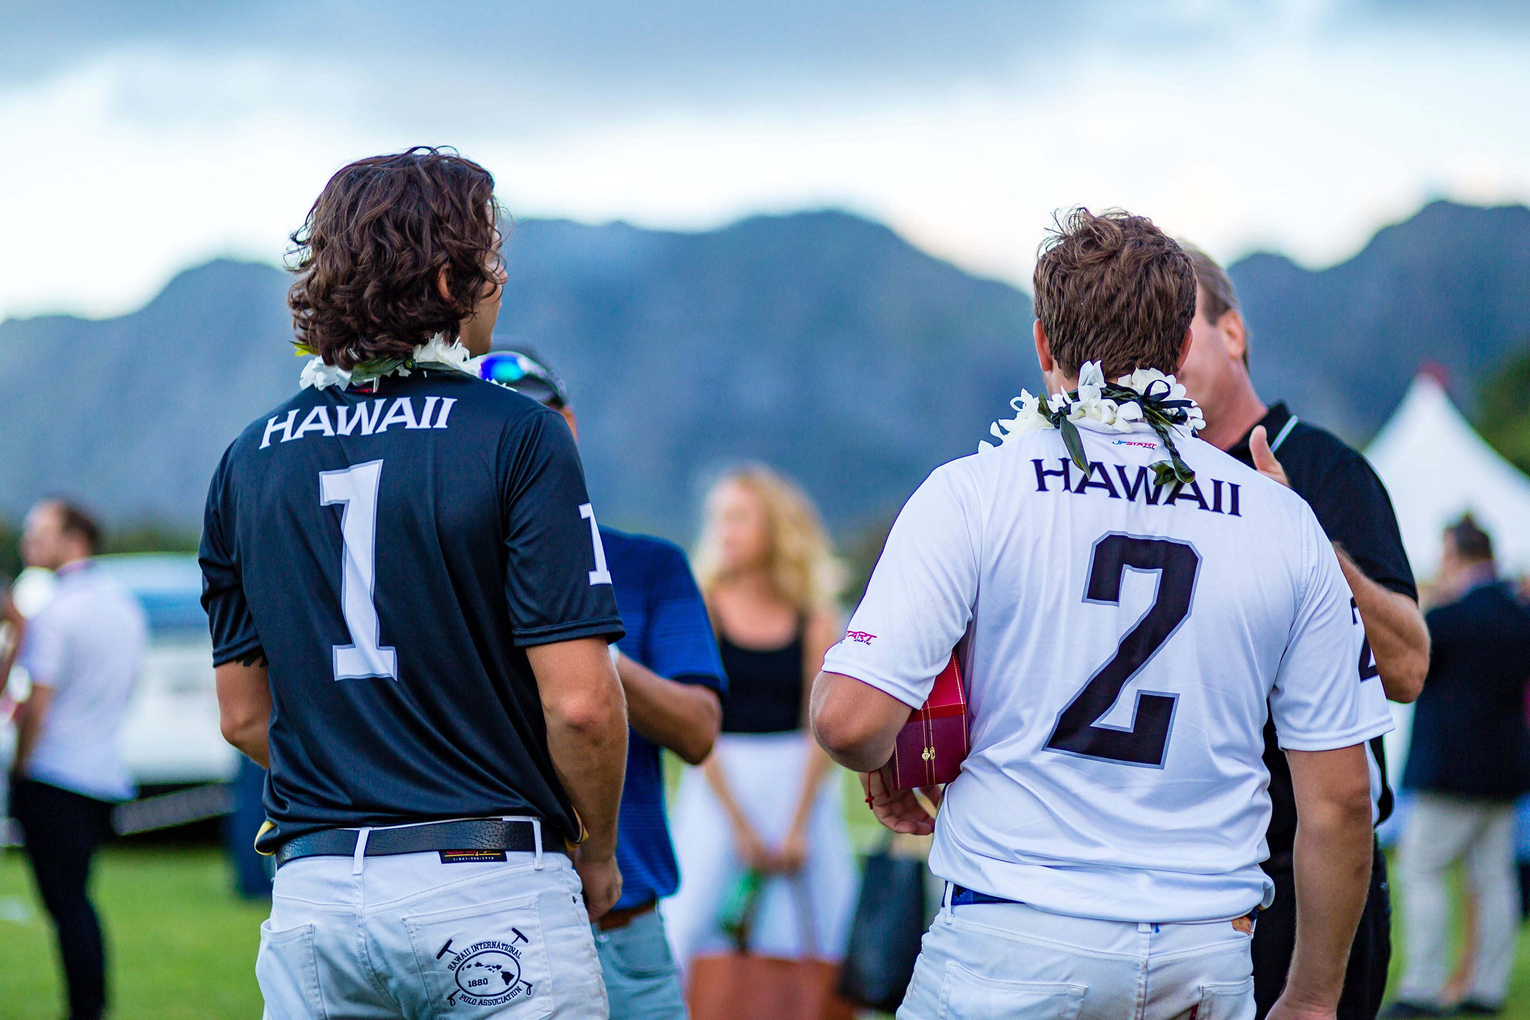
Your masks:
<svg viewBox="0 0 1530 1020"><path fill-rule="evenodd" d="M494 352L479 362L479 373L557 410L578 434L563 381L540 359ZM610 647L632 733L617 820L623 893L595 924L595 948L612 1020L684 1020L679 968L655 910L679 885L659 748L701 765L718 739L727 679L685 554L661 538L610 528L601 528L600 538L627 632Z"/></svg>

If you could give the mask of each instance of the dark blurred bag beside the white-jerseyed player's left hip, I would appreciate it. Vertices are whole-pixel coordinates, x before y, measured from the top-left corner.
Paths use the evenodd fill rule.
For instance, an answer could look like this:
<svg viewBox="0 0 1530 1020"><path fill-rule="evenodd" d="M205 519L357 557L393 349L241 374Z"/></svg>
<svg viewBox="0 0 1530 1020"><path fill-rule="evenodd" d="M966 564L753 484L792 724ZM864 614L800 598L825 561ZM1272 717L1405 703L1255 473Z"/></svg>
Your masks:
<svg viewBox="0 0 1530 1020"><path fill-rule="evenodd" d="M840 968L842 996L860 1006L897 1012L913 979L926 916L926 864L890 852L892 836L866 858L851 945Z"/></svg>

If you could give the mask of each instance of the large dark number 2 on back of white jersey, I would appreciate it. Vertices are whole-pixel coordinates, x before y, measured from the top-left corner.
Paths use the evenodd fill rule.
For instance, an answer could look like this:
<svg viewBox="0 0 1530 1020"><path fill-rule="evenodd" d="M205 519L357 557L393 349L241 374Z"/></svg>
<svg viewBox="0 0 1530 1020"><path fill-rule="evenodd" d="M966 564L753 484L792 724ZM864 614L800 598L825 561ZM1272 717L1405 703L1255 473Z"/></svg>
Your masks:
<svg viewBox="0 0 1530 1020"><path fill-rule="evenodd" d="M1121 688L1158 653L1190 615L1201 557L1189 543L1111 534L1094 543L1083 601L1118 606L1126 570L1157 570L1152 606L1115 645L1111 661L1089 677L1057 716L1047 748L1086 759L1163 768L1178 694L1137 694L1131 729L1100 723L1121 696Z"/></svg>

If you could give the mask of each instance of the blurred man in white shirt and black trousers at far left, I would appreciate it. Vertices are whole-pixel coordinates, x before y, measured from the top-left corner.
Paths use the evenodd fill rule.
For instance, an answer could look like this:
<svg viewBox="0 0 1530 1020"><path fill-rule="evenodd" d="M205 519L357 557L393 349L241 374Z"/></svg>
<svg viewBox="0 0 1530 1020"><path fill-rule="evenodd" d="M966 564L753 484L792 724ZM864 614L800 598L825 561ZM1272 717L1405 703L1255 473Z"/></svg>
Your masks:
<svg viewBox="0 0 1530 1020"><path fill-rule="evenodd" d="M21 534L21 558L54 570L58 587L21 632L32 690L17 713L11 814L58 933L72 1020L106 1008L106 950L86 885L112 804L133 797L119 734L148 633L138 601L92 564L99 538L66 500L34 506Z"/></svg>

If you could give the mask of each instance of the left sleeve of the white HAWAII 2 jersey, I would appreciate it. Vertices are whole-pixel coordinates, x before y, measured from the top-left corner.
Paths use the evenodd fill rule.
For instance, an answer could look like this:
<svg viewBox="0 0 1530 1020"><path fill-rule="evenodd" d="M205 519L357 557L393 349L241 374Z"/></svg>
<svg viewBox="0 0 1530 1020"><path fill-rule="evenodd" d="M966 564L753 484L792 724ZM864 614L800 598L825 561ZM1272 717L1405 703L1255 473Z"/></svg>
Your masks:
<svg viewBox="0 0 1530 1020"><path fill-rule="evenodd" d="M866 596L823 668L910 708L923 705L972 619L981 535L970 477L959 462L938 468L898 514Z"/></svg>

